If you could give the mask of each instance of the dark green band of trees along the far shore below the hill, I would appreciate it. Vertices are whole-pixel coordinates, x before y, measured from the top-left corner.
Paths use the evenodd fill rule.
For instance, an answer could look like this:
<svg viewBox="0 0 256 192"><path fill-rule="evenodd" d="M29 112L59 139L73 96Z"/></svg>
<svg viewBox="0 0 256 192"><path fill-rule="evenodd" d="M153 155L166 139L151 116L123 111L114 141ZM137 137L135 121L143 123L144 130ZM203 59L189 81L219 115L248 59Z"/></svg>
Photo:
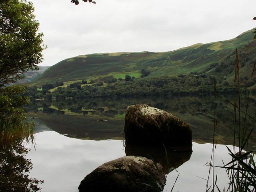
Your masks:
<svg viewBox="0 0 256 192"><path fill-rule="evenodd" d="M177 94L214 94L214 81L216 82L216 93L237 92L236 83L228 83L226 80L215 80L215 77L207 74L196 74L191 72L188 75L175 77L160 76L154 78L126 78L124 80L112 80L103 82L87 83L74 82L67 87L61 86L63 82L56 84L44 84L41 88L32 86L28 94L31 99L65 99L65 98L94 98L94 97L131 97L131 96L166 96ZM250 86L256 83L252 80L242 79L240 91L248 92ZM58 85L58 86L57 86ZM54 91L50 89L55 88ZM256 88L250 88L256 92Z"/></svg>

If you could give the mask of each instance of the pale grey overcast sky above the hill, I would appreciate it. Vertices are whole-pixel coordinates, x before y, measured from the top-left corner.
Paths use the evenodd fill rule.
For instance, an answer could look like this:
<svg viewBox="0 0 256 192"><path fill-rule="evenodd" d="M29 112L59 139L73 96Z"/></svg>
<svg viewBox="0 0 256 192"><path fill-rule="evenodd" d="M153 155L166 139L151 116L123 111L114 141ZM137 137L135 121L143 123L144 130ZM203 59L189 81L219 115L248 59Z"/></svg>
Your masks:
<svg viewBox="0 0 256 192"><path fill-rule="evenodd" d="M104 52L165 52L235 38L256 27L256 0L30 0L44 62Z"/></svg>

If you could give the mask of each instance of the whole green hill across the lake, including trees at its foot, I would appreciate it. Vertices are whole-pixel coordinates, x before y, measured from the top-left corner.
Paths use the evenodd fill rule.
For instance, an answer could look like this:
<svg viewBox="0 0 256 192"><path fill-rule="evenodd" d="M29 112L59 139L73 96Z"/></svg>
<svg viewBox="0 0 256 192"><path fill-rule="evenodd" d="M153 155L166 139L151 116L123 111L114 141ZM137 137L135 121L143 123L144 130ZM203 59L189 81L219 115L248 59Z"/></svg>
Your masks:
<svg viewBox="0 0 256 192"><path fill-rule="evenodd" d="M238 37L195 44L170 52L119 52L80 55L48 68L30 83L31 98L166 96L256 93L254 30Z"/></svg>

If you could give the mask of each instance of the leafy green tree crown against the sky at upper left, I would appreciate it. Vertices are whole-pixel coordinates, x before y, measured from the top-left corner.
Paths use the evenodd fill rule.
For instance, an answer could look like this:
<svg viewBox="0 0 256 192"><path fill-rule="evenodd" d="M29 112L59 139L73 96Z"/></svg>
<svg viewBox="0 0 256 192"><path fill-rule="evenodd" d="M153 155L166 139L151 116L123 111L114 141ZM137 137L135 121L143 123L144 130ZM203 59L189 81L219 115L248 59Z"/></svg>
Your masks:
<svg viewBox="0 0 256 192"><path fill-rule="evenodd" d="M24 72L38 70L44 50L39 23L32 3L0 1L0 86L24 78Z"/></svg>

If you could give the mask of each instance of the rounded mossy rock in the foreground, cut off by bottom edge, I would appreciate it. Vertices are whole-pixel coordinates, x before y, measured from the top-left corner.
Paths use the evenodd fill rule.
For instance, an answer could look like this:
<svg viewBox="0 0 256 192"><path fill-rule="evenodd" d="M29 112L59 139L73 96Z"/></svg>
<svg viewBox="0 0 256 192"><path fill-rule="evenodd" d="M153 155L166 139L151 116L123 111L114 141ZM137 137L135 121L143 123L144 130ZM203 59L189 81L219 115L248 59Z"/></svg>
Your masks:
<svg viewBox="0 0 256 192"><path fill-rule="evenodd" d="M157 166L157 167L156 167ZM125 156L106 162L88 174L79 192L153 192L163 185L165 176L160 164L145 157ZM148 185L155 187L149 188Z"/></svg>

